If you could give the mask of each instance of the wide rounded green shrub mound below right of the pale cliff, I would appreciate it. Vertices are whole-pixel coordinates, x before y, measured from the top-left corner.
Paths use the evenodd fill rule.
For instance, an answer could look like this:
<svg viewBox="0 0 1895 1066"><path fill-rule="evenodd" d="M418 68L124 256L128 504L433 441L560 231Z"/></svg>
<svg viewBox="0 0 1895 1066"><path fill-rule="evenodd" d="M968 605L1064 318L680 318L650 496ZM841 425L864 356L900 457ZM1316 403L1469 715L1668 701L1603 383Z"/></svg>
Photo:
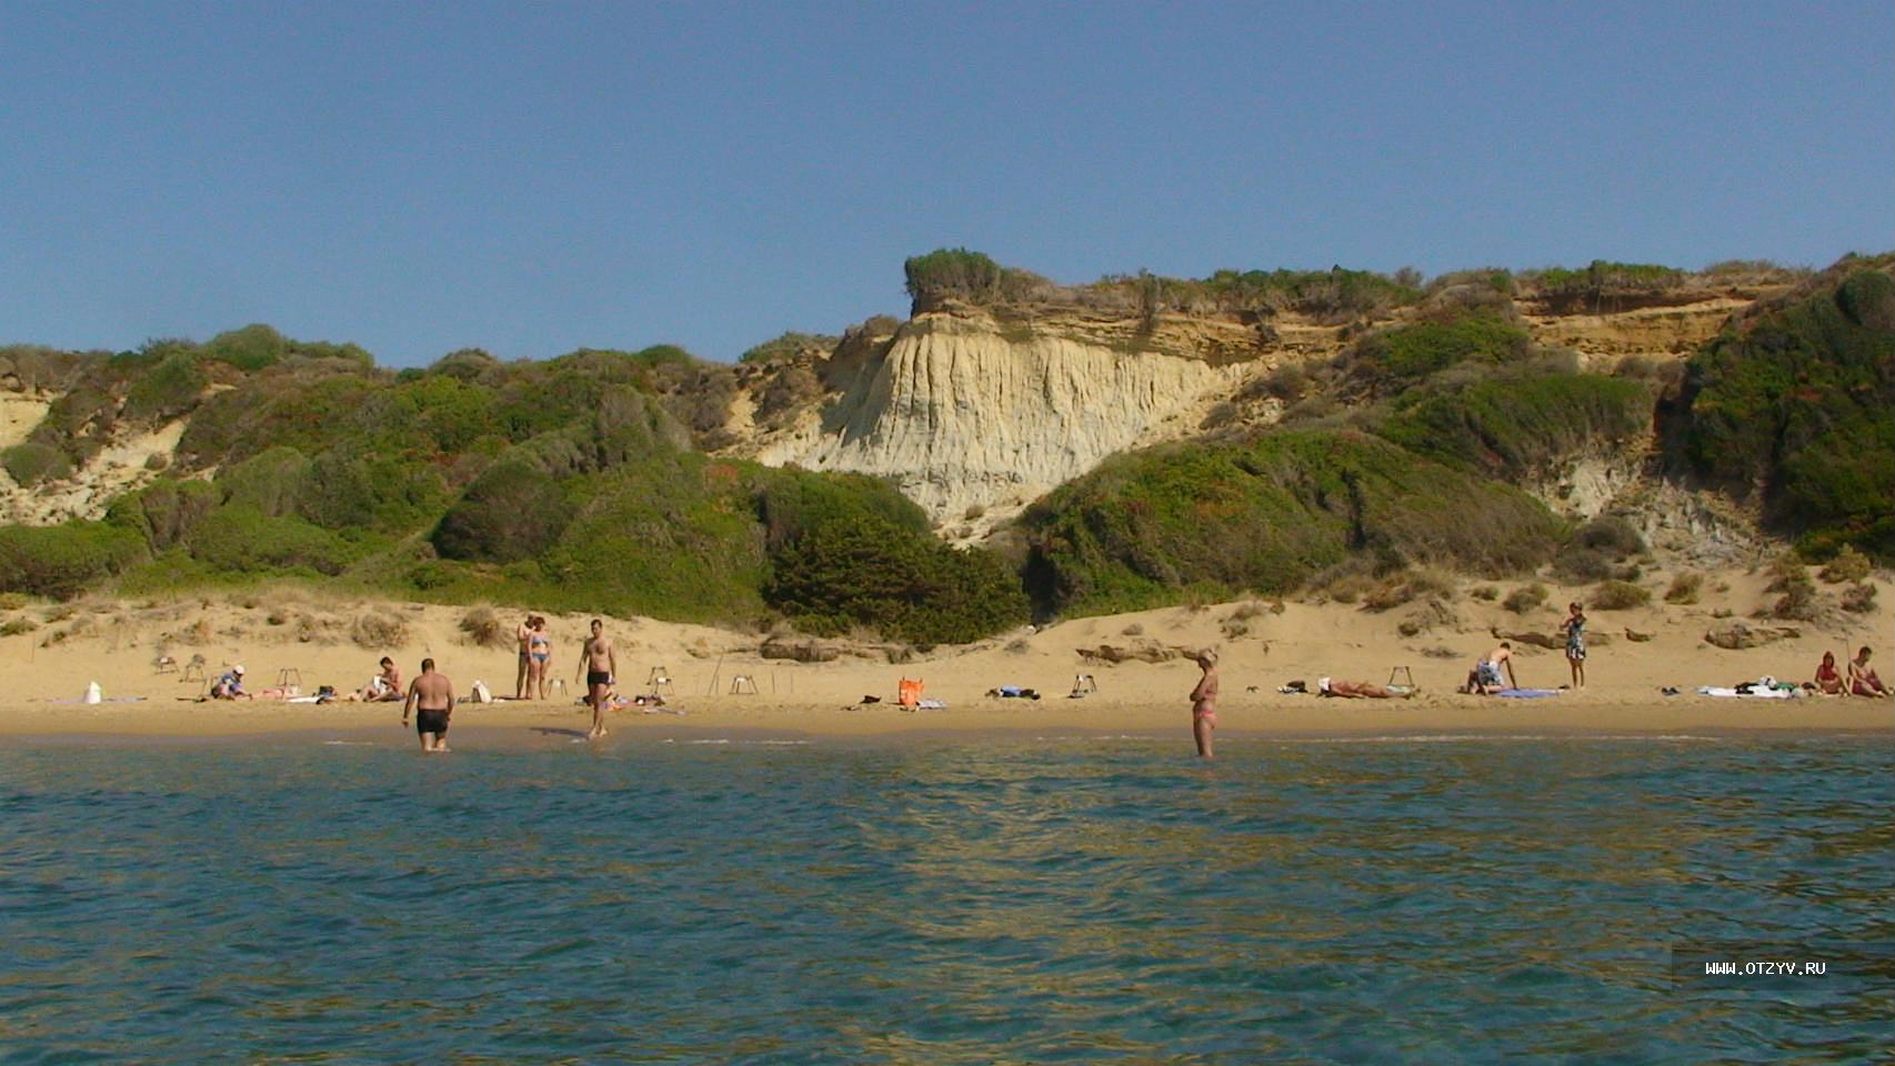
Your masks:
<svg viewBox="0 0 1895 1066"><path fill-rule="evenodd" d="M1277 432L1116 456L1020 521L1040 612L1287 593L1349 555L1531 570L1563 524L1508 487L1357 432Z"/></svg>

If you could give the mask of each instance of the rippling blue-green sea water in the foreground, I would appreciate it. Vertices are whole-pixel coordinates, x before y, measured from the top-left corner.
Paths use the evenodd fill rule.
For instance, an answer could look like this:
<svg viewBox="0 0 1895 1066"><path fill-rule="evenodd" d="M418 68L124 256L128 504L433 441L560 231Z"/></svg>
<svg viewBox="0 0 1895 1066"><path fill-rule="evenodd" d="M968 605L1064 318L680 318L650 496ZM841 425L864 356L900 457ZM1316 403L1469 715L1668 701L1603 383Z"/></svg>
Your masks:
<svg viewBox="0 0 1895 1066"><path fill-rule="evenodd" d="M1218 752L1192 761L1182 733L15 746L0 1062L1696 1064L1891 1043L1887 737ZM1831 966L1673 973L1694 943Z"/></svg>

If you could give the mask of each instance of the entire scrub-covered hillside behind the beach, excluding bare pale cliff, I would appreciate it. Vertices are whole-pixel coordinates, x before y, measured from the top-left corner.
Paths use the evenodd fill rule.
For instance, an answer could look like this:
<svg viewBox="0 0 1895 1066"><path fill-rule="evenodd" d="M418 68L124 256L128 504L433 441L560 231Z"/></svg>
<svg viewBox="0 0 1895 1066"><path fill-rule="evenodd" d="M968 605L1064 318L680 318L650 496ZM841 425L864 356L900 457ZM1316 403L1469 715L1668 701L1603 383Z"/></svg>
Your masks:
<svg viewBox="0 0 1895 1066"><path fill-rule="evenodd" d="M163 426L182 437L102 517L0 526L0 591L292 579L923 646L1035 615L1245 595L1399 606L1442 595L1450 572L1484 577L1489 598L1501 595L1491 581L1525 581L1505 596L1516 612L1543 606L1537 576L1597 585L1611 610L1649 598L1643 538L1618 515L1569 523L1527 489L1626 449L1755 504L1804 557L1829 560L1823 579L1848 587L1844 606L1867 602L1868 570L1895 560L1895 256L1814 276L1751 261L1696 273L1597 261L1435 280L1141 271L1088 286L965 248L904 267L917 309L1302 314L1342 341L1334 358L1236 388L1198 437L1118 454L1056 489L1002 523L991 549L944 543L887 481L720 451L739 388L756 426L790 426L832 388L822 360L872 358L893 320L839 339L783 333L737 364L675 345L542 362L462 348L388 371L356 345L269 326L116 354L15 345L0 348L0 379L49 398L32 432L0 451L25 490L66 485L129 437ZM1677 373L1584 371L1577 352L1537 345L1522 312L1759 280L1796 284ZM1245 413L1264 405L1268 420ZM1781 617L1817 606L1808 579L1779 593ZM1681 577L1664 598L1692 602L1698 583Z"/></svg>

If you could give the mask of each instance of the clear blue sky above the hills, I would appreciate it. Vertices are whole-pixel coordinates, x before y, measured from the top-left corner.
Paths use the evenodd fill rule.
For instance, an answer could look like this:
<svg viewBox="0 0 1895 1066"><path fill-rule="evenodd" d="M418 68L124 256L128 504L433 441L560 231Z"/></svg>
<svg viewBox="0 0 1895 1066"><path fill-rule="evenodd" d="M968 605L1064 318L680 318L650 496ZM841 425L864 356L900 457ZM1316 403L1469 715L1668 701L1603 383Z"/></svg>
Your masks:
<svg viewBox="0 0 1895 1066"><path fill-rule="evenodd" d="M1063 282L1895 248L1895 8L0 0L0 343L385 365Z"/></svg>

